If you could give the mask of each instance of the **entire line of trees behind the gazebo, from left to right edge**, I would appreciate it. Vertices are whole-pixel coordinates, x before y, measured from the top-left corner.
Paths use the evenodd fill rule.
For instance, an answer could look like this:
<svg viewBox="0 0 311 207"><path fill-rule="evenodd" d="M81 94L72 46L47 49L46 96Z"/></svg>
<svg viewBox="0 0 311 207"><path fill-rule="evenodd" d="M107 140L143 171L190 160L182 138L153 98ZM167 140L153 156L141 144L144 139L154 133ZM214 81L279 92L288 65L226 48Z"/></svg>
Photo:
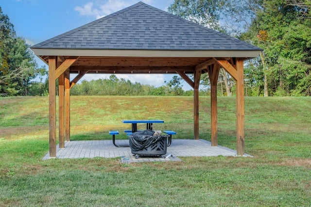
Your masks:
<svg viewBox="0 0 311 207"><path fill-rule="evenodd" d="M168 11L263 49L244 62L245 96L311 96L310 0L174 0ZM47 96L47 70L0 8L0 94ZM39 81L34 81L39 78ZM190 79L193 77L190 76ZM160 87L132 83L112 75L82 81L72 95L192 96L179 76ZM218 94L235 94L235 81L220 70ZM209 95L208 74L200 95Z"/></svg>

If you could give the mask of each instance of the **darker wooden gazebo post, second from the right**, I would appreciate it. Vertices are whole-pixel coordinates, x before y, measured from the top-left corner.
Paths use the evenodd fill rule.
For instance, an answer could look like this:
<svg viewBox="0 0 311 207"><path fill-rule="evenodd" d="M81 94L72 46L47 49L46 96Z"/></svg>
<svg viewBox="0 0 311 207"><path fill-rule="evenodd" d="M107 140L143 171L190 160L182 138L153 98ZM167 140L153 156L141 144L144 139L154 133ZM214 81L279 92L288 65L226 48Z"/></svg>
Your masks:
<svg viewBox="0 0 311 207"><path fill-rule="evenodd" d="M217 81L220 71L220 65L214 64L213 69L209 68L210 81L210 125L211 125L211 145L218 145L217 138Z"/></svg>

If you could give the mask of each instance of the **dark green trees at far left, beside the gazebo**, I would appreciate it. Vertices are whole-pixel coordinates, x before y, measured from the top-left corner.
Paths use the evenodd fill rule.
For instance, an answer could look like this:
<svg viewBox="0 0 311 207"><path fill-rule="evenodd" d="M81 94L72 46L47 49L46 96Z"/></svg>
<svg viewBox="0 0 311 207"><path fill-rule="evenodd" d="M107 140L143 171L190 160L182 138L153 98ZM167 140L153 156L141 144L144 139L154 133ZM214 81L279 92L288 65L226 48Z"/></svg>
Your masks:
<svg viewBox="0 0 311 207"><path fill-rule="evenodd" d="M0 93L27 96L29 83L45 68L38 68L26 41L17 37L14 25L0 7Z"/></svg>

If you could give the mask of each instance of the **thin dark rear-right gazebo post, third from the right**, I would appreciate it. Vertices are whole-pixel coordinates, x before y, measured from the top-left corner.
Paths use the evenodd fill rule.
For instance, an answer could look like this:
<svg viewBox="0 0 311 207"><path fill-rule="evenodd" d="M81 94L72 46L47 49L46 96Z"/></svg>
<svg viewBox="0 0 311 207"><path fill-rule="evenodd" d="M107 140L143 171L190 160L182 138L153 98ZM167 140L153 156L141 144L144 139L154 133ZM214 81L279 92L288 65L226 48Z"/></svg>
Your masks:
<svg viewBox="0 0 311 207"><path fill-rule="evenodd" d="M193 131L194 139L198 140L199 137L199 85L202 70L194 71L194 90L193 90Z"/></svg>

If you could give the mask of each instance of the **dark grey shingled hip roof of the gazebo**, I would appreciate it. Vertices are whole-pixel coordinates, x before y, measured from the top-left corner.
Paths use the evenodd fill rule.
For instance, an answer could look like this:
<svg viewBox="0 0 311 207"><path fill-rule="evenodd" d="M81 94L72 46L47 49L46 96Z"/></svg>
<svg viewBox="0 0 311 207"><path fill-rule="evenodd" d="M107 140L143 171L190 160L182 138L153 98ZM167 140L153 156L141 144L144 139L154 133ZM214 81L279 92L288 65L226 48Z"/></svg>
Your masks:
<svg viewBox="0 0 311 207"><path fill-rule="evenodd" d="M31 48L34 49L35 53L36 49L50 48L184 51L261 50L246 42L164 12L143 2L138 2L119 12L36 44ZM256 54L258 55L258 52Z"/></svg>

